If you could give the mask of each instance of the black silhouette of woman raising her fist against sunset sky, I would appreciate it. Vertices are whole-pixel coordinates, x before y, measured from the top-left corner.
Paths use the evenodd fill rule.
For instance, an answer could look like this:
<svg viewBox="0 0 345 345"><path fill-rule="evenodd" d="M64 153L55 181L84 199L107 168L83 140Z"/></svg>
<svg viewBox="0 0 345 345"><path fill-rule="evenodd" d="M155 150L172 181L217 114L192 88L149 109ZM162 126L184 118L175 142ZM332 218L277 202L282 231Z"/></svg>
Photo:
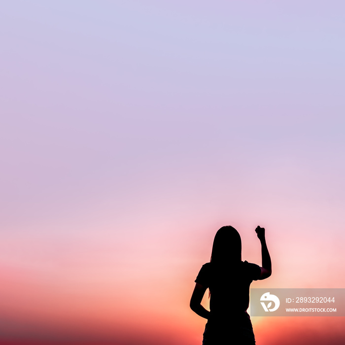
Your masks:
<svg viewBox="0 0 345 345"><path fill-rule="evenodd" d="M190 307L207 319L203 345L255 345L247 313L249 285L272 273L265 228L255 229L261 242L262 267L242 261L240 234L232 226L220 228L213 241L211 260L201 268L195 282ZM201 301L209 288L209 311Z"/></svg>

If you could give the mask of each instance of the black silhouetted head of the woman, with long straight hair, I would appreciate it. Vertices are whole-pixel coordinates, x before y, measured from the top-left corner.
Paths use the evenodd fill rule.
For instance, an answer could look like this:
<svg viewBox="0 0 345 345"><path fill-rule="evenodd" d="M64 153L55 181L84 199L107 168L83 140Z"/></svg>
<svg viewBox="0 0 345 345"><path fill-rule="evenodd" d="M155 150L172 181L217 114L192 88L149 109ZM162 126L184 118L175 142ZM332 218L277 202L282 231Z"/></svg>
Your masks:
<svg viewBox="0 0 345 345"><path fill-rule="evenodd" d="M242 260L242 242L238 231L232 226L220 228L213 241L211 262L227 264Z"/></svg>

